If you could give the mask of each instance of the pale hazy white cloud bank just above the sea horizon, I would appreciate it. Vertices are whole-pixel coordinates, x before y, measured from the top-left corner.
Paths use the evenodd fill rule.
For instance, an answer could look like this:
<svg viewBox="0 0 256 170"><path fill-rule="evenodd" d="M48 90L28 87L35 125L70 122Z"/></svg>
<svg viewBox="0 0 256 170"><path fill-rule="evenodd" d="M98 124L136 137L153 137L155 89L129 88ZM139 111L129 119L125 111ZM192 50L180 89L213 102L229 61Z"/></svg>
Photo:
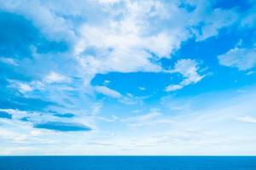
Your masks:
<svg viewBox="0 0 256 170"><path fill-rule="evenodd" d="M255 155L255 126L248 127L234 121L234 117L244 117L255 111L255 89L247 89L247 92L236 95L236 98L233 94L219 93L213 97L212 94L203 95L201 99L193 96L181 103L189 103L193 110L179 114L164 106L172 102L169 100L161 110L151 110L144 115L131 113L128 118L121 115L97 117L99 122L119 126L111 128L111 131L105 128L91 133L35 132L24 123L1 122L3 150L0 152L9 155L35 152L40 155ZM201 101L207 101L207 105L198 110L196 104L201 105ZM123 128L120 123L130 127ZM73 141L77 141L76 144ZM86 145L90 147L86 148Z"/></svg>

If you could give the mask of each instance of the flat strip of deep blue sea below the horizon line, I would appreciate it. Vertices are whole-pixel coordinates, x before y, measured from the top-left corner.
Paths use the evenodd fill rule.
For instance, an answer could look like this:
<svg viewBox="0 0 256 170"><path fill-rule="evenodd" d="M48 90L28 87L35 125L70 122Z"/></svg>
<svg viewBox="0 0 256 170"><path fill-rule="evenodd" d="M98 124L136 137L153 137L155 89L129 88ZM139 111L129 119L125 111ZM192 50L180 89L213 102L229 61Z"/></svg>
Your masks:
<svg viewBox="0 0 256 170"><path fill-rule="evenodd" d="M0 170L256 170L256 156L0 156Z"/></svg>

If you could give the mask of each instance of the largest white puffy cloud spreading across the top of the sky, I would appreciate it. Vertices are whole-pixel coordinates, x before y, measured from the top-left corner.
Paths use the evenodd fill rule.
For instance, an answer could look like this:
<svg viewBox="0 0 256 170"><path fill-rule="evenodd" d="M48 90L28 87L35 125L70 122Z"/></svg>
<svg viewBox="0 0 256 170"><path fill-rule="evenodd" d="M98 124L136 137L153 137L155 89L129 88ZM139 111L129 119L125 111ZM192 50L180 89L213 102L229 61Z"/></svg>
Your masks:
<svg viewBox="0 0 256 170"><path fill-rule="evenodd" d="M164 71L159 59L172 57L182 42L193 36L198 40L216 36L237 18L236 10L214 9L206 1L65 0L60 5L9 0L0 4L3 10L32 20L49 39L69 42L71 55L83 67L87 91L99 73ZM196 82L193 78L182 86Z"/></svg>

